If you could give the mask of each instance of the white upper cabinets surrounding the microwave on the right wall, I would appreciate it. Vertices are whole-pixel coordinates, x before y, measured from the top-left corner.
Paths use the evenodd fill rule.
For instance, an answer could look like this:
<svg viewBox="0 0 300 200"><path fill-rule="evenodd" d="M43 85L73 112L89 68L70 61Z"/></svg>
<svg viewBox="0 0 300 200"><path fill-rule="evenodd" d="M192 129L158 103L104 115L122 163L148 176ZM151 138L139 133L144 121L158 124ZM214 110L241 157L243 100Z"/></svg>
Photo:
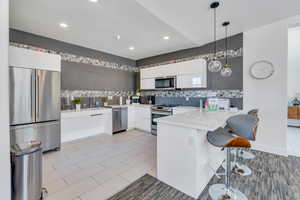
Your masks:
<svg viewBox="0 0 300 200"><path fill-rule="evenodd" d="M141 89L155 89L155 78L166 76L176 76L177 88L206 88L206 60L195 59L141 69Z"/></svg>

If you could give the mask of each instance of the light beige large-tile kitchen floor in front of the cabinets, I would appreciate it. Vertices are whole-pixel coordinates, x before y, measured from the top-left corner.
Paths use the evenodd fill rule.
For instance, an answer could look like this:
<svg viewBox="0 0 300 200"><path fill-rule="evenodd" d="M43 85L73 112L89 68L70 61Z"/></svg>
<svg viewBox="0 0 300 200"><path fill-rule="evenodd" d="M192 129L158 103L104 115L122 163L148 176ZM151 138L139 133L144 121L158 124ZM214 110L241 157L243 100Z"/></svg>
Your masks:
<svg viewBox="0 0 300 200"><path fill-rule="evenodd" d="M47 200L101 200L142 177L156 177L156 137L141 131L62 144L43 156Z"/></svg>

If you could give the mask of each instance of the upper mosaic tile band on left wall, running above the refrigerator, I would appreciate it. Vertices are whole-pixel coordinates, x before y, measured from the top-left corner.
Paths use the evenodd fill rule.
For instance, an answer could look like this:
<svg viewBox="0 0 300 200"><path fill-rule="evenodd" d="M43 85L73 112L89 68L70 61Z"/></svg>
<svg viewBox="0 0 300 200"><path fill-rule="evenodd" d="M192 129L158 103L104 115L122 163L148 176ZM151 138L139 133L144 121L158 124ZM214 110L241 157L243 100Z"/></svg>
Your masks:
<svg viewBox="0 0 300 200"><path fill-rule="evenodd" d="M78 55L65 53L65 52L53 51L53 50L39 48L39 47L27 45L27 44L10 42L10 45L14 46L14 47L33 50L33 51L57 54L57 55L61 56L61 59L63 61L67 61L67 62L83 63L83 64L95 65L95 66L99 66L99 67L106 67L106 68L110 68L110 69L129 71L129 72L139 72L140 71L140 68L138 68L138 67L133 67L133 66L129 66L129 65L121 65L118 63L104 61L101 59L95 59L95 58L90 58L90 57L85 57L85 56L78 56Z"/></svg>

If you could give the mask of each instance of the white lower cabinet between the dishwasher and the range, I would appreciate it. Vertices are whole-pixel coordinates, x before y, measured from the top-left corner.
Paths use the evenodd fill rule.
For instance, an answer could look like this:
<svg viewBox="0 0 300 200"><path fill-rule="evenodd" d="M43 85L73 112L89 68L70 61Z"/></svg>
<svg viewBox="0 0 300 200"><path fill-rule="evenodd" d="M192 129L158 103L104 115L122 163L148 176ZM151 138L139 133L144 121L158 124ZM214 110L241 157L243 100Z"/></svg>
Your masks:
<svg viewBox="0 0 300 200"><path fill-rule="evenodd" d="M128 106L128 129L151 132L151 106Z"/></svg>

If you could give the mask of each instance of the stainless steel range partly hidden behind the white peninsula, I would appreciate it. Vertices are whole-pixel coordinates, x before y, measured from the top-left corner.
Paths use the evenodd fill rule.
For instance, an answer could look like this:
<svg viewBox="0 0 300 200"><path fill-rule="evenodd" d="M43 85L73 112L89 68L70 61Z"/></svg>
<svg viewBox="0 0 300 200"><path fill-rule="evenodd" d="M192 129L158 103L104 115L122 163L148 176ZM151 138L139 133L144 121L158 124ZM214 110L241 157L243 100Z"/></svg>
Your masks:
<svg viewBox="0 0 300 200"><path fill-rule="evenodd" d="M151 109L151 133L157 135L157 122L154 120L161 117L170 116L173 114L173 107L169 105L157 105Z"/></svg>

